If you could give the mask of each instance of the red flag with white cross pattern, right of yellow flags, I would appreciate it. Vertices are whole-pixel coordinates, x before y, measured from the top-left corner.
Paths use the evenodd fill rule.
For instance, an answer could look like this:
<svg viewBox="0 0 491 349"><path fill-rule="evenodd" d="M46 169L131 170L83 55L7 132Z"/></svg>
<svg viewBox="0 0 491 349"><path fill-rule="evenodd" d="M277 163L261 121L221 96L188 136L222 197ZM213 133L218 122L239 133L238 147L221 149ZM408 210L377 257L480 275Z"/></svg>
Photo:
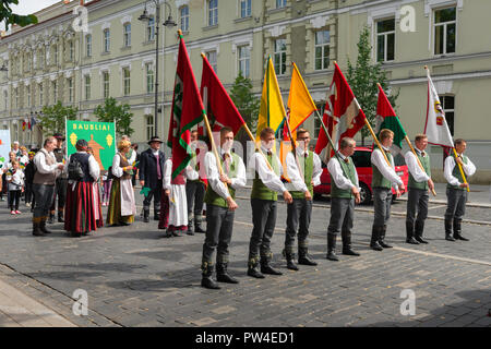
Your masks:
<svg viewBox="0 0 491 349"><path fill-rule="evenodd" d="M339 67L337 63L334 63L334 65L333 82L327 92L323 121L334 145L338 147L340 140L344 137L354 137L364 125L366 117ZM327 148L327 135L324 129L321 128L318 143L315 144L315 153L321 154L321 152ZM327 149L330 149L332 155L333 149L331 147Z"/></svg>

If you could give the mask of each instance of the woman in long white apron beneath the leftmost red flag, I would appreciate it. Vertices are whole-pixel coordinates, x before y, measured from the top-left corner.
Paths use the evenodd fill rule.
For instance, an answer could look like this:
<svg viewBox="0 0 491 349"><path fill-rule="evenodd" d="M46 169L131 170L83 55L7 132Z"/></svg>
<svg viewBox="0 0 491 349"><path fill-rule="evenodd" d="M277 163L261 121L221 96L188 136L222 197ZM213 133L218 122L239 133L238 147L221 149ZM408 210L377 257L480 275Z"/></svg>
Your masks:
<svg viewBox="0 0 491 349"><path fill-rule="evenodd" d="M197 179L197 172L188 166L172 179L172 159L164 165L163 195L160 200L160 220L158 229L167 229L166 238L179 237L179 231L188 230L188 200L185 179Z"/></svg>

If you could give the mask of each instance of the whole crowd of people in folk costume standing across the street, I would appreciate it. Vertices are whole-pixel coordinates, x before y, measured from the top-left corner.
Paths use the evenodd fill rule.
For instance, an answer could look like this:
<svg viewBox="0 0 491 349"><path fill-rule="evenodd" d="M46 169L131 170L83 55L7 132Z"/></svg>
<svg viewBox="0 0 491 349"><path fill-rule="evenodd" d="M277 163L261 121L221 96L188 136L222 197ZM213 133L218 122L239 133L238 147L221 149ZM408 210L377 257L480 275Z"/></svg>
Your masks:
<svg viewBox="0 0 491 349"><path fill-rule="evenodd" d="M204 152L196 147L197 131L191 132L193 156L180 173L172 176L172 157L166 159L160 149L163 141L154 136L148 148L137 154L128 136L117 143L117 153L111 166L105 170L95 159L87 141L79 140L76 153L67 158L64 136L56 133L48 136L40 149L31 149L14 142L9 159L0 163L2 172L1 200L4 194L11 215L21 215L20 202L33 212L33 234L45 236L51 231L47 222L53 222L58 197L58 221L72 237L81 237L104 226L129 226L135 221L136 181L144 195L142 220L149 222L151 205L154 201L154 220L166 238L183 233L205 233L202 252L202 286L219 289L212 278L216 265L218 282L237 284L228 274L229 245L232 239L235 212L239 207L236 191L247 183L243 159L232 152L235 134L228 127L219 132L216 152ZM374 219L370 248L383 251L392 248L387 241L387 221L391 215L393 191L399 196L406 188L394 169L391 146L394 133L380 132L381 148L371 155L373 169ZM318 154L309 149L310 133L297 131L297 146L286 156L288 183L283 176L284 167L274 153L275 132L265 128L261 132L261 145L250 157L249 168L254 173L251 190L253 229L249 243L247 274L254 278L282 275L273 268L271 241L276 225L278 194L287 204L287 228L283 255L287 268L298 270L300 265L318 263L309 255L309 227L312 216L313 186L320 184L322 163ZM431 180L430 157L426 152L428 139L424 134L415 137L416 151L405 156L409 170L408 202L406 217L406 242L428 243L423 239L424 220L428 215L428 192L434 189ZM355 220L355 204L360 203L358 173L351 156L356 141L343 139L339 149L327 163L331 176L331 217L327 225L327 254L330 261L339 261L336 240L340 233L342 253L349 256L360 254L352 249L351 231ZM444 178L447 181L447 209L444 231L448 241L468 241L462 232L468 184L463 172L469 177L476 166L464 155L466 142L455 141L456 156L445 159ZM201 154L203 155L203 154ZM199 161L197 159L203 160ZM462 168L462 171L459 169ZM205 181L203 180L205 179ZM287 189L288 188L288 189ZM202 227L202 213L206 204L206 227ZM107 206L104 219L101 207ZM193 228L194 227L194 228ZM297 240L298 256L295 253ZM214 254L216 257L214 258Z"/></svg>

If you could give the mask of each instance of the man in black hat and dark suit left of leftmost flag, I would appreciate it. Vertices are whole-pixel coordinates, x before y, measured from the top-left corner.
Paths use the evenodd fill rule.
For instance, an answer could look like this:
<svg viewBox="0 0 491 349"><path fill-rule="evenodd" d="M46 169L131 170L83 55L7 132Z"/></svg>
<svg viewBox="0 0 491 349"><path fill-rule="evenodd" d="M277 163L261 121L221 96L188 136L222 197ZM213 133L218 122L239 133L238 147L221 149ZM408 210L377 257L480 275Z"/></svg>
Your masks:
<svg viewBox="0 0 491 349"><path fill-rule="evenodd" d="M160 215L160 197L164 179L165 154L160 151L164 143L158 136L153 136L149 141L149 148L140 155L140 184L149 188L149 192L143 201L143 221L149 221L149 205L154 197L154 219L158 220Z"/></svg>

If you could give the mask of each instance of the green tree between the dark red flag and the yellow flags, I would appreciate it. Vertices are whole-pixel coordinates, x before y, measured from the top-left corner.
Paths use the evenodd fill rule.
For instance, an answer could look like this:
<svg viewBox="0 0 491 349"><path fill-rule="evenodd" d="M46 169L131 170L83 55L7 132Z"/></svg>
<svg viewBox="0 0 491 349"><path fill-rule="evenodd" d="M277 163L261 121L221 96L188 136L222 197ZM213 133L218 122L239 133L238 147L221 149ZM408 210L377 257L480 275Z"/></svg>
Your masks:
<svg viewBox="0 0 491 349"><path fill-rule="evenodd" d="M242 116L243 121L248 124L252 134L254 134L261 100L252 93L251 80L249 77L244 77L241 71L239 71L239 75L233 82L230 98ZM240 132L244 131L241 129Z"/></svg>

